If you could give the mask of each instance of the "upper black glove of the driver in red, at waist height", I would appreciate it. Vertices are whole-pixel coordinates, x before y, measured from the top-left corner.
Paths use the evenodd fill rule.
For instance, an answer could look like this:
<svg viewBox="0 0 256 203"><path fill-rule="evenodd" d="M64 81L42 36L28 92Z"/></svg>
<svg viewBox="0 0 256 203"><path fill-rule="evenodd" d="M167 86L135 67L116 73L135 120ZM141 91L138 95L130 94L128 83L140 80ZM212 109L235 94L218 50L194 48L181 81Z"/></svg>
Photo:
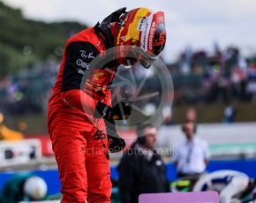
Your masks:
<svg viewBox="0 0 256 203"><path fill-rule="evenodd" d="M132 102L124 100L114 107L109 107L102 102L96 105L94 117L103 117L106 120L125 120L132 114Z"/></svg>

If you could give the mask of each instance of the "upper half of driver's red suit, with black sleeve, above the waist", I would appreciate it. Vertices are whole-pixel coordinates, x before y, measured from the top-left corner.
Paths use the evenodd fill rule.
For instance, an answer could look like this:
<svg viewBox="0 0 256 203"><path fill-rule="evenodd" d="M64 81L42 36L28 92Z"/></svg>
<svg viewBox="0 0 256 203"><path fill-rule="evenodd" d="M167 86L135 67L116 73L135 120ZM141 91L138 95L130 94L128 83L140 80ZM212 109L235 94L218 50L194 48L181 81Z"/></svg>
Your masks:
<svg viewBox="0 0 256 203"><path fill-rule="evenodd" d="M112 73L104 70L90 70L92 74L87 79L87 84L81 84L84 73L90 68L94 57L105 50L103 41L95 33L93 27L72 36L66 42L56 85L49 100L49 109L59 109L61 106L70 105L84 112L83 107L94 109L96 101L111 104L110 91L106 89L106 86L113 79ZM91 95L81 90L83 86L87 86Z"/></svg>

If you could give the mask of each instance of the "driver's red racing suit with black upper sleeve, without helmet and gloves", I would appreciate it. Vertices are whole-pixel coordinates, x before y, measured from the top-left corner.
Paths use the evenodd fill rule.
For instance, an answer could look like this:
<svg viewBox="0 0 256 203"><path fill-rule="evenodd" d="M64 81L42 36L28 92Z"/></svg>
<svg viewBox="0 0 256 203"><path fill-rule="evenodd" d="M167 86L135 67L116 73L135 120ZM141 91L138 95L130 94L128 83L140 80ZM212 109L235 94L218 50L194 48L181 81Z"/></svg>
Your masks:
<svg viewBox="0 0 256 203"><path fill-rule="evenodd" d="M81 84L94 57L106 45L94 27L70 38L49 99L48 126L61 181L62 202L110 202L108 139L98 101L111 105L107 85L113 72L101 69ZM80 86L85 87L81 89Z"/></svg>

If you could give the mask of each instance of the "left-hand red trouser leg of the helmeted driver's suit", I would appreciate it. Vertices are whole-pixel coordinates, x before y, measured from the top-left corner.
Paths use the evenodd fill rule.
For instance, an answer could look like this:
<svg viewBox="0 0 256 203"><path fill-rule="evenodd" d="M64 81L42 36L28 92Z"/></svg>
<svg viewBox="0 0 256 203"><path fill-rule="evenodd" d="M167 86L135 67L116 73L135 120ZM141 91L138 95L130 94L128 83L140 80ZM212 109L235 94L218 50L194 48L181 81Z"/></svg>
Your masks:
<svg viewBox="0 0 256 203"><path fill-rule="evenodd" d="M56 117L57 118L57 117ZM64 117L63 117L64 118ZM87 199L85 122L74 124L63 120L53 120L51 131L53 151L61 182L62 203L85 202ZM77 126L75 126L77 125Z"/></svg>

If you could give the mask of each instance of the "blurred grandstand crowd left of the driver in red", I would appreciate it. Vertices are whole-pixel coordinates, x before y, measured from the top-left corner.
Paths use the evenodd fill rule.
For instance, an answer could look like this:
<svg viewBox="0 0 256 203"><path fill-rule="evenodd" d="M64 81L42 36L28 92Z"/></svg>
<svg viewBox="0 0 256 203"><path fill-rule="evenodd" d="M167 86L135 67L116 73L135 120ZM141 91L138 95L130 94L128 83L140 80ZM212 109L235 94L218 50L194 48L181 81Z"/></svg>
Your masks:
<svg viewBox="0 0 256 203"><path fill-rule="evenodd" d="M21 115L45 112L58 67L54 61L28 65L19 73L0 79L0 110Z"/></svg>

